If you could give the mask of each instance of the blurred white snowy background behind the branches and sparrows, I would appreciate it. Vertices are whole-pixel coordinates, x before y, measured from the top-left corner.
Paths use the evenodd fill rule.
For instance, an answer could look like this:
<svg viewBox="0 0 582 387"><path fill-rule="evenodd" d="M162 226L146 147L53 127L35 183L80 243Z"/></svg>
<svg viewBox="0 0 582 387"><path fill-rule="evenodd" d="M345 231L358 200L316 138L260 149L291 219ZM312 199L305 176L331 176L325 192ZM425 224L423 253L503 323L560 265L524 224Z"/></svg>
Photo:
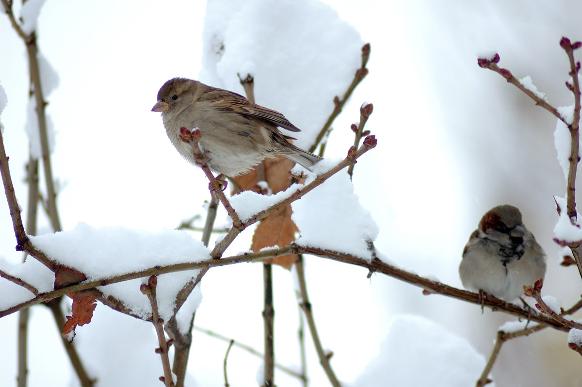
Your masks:
<svg viewBox="0 0 582 387"><path fill-rule="evenodd" d="M51 74L44 80L55 129L54 173L63 185L58 199L63 229L84 222L159 235L204 214L203 173L179 157L159 115L150 112L161 84L186 76L242 93L235 69L255 72L257 102L308 132L332 109L331 97L313 96L338 93L335 82L318 82L310 69L357 66L359 46L347 63L331 55L349 45L326 40L333 34L352 39L355 30L362 42L371 42L370 74L336 120L326 156L345 155L359 106L374 103L367 129L377 136L378 147L359 160L353 182L361 207L378 225L378 249L402 267L460 287L460 254L478 220L495 205L514 204L548 254L544 293L565 307L577 300L579 275L574 267L558 265L560 249L552 242L558 219L552 196L565 193L553 145L556 120L501 76L479 68L475 54L496 50L502 67L519 78L531 76L554 105L570 105L572 94L563 86L569 66L559 40L562 35L582 40L582 4L328 0L345 23L336 22L333 31L320 26L318 35L318 23L334 20L333 12L315 1L293 3L294 8L278 2L286 8L276 12L261 8L265 2L247 2L244 8L237 1L211 1L205 20L203 2L47 1L37 31L41 52L58 74L58 83ZM8 96L0 120L16 194L26 203L24 128L30 127L27 109L33 107L27 106L26 52L8 18L0 16L0 84ZM240 49L227 48L220 63L210 49L216 48L219 31ZM283 40L288 31L296 37ZM315 48L314 35L306 31L315 31L322 47ZM256 51L249 54L249 48ZM289 61L289 52L300 49L302 61ZM237 62L240 55L264 61ZM19 264L22 255L13 250L2 200L0 214L0 262L6 268ZM44 216L39 223L39 234L49 231ZM251 233L243 233L229 252L246 250ZM479 307L446 297L423 296L417 287L383 275L367 279L362 268L310 257L306 269L322 343L334 353L339 379L350 386L473 385L496 329L513 320L489 310L481 315ZM281 268L274 275L276 361L297 368L294 280ZM201 287L196 325L261 349L261 265L211 269ZM0 294L2 303L9 297ZM16 322L16 314L0 319L0 385L15 384ZM58 335L49 311L32 308L31 386L76 385ZM128 378L133 385L161 385L151 324L98 305L91 324L77 329L75 342L99 386L125 385ZM223 385L227 345L195 331L190 381ZM311 385L327 385L309 340L307 348ZM564 333L547 330L506 343L492 375L497 385L579 385L579 361L579 354L567 349ZM257 385L260 363L233 348L229 381ZM443 373L443 367L450 372ZM299 385L281 372L275 381Z"/></svg>

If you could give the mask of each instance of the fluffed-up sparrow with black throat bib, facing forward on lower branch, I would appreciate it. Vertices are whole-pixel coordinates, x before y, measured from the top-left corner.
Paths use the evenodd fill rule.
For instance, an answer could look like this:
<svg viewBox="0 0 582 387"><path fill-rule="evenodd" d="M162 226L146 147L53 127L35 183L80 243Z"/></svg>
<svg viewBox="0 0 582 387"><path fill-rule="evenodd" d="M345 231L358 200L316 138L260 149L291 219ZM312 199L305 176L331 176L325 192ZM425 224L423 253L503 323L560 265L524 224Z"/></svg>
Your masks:
<svg viewBox="0 0 582 387"><path fill-rule="evenodd" d="M481 218L463 250L459 275L466 289L510 302L523 295L524 285L544 278L545 261L544 250L521 222L521 212L504 204Z"/></svg>

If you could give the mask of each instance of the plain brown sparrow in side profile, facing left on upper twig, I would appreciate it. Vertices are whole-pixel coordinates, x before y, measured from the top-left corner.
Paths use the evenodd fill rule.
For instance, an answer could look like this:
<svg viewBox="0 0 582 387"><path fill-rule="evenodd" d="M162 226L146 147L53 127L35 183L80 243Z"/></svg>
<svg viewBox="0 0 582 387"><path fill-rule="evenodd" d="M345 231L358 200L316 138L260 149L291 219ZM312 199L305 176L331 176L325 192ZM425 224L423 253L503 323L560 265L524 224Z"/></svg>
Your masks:
<svg viewBox="0 0 582 387"><path fill-rule="evenodd" d="M151 109L161 112L166 133L178 152L192 164L200 164L190 144L180 140L180 128L200 129L198 147L214 172L237 176L265 158L282 155L313 171L321 157L304 151L278 129L300 132L281 113L254 104L240 94L211 87L196 80L173 78L159 89Z"/></svg>

